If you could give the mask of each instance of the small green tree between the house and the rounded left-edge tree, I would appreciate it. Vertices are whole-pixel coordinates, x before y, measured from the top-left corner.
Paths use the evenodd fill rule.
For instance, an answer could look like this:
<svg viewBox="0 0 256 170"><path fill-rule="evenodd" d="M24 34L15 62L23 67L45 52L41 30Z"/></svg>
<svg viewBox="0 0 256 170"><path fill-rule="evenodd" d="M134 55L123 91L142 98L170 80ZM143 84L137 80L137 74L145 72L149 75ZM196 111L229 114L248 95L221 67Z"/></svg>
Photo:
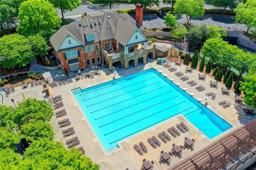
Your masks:
<svg viewBox="0 0 256 170"><path fill-rule="evenodd" d="M32 51L35 51L35 53L40 55L40 57L44 57L47 54L47 51L50 49L45 38L43 38L40 34L28 36L28 40L32 45Z"/></svg>

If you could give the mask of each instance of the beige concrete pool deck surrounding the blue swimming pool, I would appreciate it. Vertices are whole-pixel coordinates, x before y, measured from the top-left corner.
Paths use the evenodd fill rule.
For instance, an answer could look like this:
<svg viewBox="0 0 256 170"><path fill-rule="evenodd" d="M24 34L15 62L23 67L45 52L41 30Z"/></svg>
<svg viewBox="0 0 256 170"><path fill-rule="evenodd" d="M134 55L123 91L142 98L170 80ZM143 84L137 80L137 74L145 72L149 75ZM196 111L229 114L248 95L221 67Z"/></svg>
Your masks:
<svg viewBox="0 0 256 170"><path fill-rule="evenodd" d="M173 117L167 121L164 121L154 127L151 127L147 130L144 130L138 134L135 134L129 138L126 138L118 144L120 145L120 148L113 150L112 152L106 153L105 150L103 149L102 145L100 144L96 134L92 130L90 124L88 123L86 117L82 113L82 109L79 107L79 105L76 102L76 99L72 95L71 91L72 89L81 87L81 88L87 88L91 87L94 85L97 85L99 83L104 83L106 81L110 81L113 79L113 71L110 72L108 68L103 69L101 75L95 75L93 79L91 78L84 78L80 79L78 81L67 84L67 85L62 85L58 87L54 87L53 89L50 89L50 94L51 96L57 96L61 95L64 103L64 107L60 109L66 109L67 115L64 117L56 118L55 116L52 117L52 120L50 121L50 124L53 127L55 136L54 136L54 141L60 141L64 144L64 146L67 148L66 140L68 140L71 137L66 137L63 138L62 136L62 130L64 128L59 128L58 126L58 121L62 119L67 119L69 118L71 121L71 125L68 127L74 127L74 130L76 134L72 135L78 136L78 139L80 140L80 144L77 146L83 146L85 150L85 155L89 156L94 162L100 164L100 169L102 170L117 170L117 169L140 169L142 165L142 160L146 159L149 161L154 161L154 169L166 169L172 166L173 164L179 162L180 160L186 158L187 156L190 156L191 154L197 152L201 148L204 148L211 142L214 142L217 138L220 138L220 136L223 136L224 134L227 134L231 130L234 130L237 127L240 127L241 125L244 125L245 123L251 121L252 119L255 119L255 116L245 116L243 114L242 108L248 107L244 104L237 104L234 101L234 92L230 92L230 95L222 95L221 93L221 87L226 88L224 85L219 83L218 88L212 88L210 87L209 83L211 81L215 81L211 77L206 76L206 80L199 80L198 79L198 74L200 73L197 70L193 70L192 73L187 73L185 72L186 65L175 65L174 62L171 62L172 67L176 67L177 71L170 72L168 71L168 68L163 67L162 65L159 65L156 63L156 60L148 59L148 64L146 65L138 65L138 67L132 67L128 70L125 69L117 69L118 75L115 75L115 78L123 77L125 75L130 75L132 73L136 73L138 71L142 71L144 69L149 69L149 68L154 68L157 67L156 70L162 71L163 75L166 75L168 79L173 79L173 82L176 84L180 84L180 87L182 89L186 88L187 93L194 93L194 97L196 99L202 99L201 103L205 104L205 101L203 98L205 97L206 93L213 92L216 93L216 98L215 100L212 100L211 97L209 97L210 101L207 105L209 109L214 111L217 115L220 117L224 118L227 120L228 123L230 123L233 127L227 130L226 132L216 136L215 138L212 138L211 140L207 138L204 134L199 132L199 130L192 124L190 123L185 117L182 115L177 115L176 117ZM182 71L184 73L183 76L188 76L190 77L188 81L194 80L197 81L198 84L190 87L186 82L187 81L181 81L180 77L177 77L174 75L175 72ZM45 72L44 77L49 77L51 75L50 72ZM51 82L51 80L50 80ZM195 87L198 85L203 85L205 87L204 91L198 92ZM8 96L5 96L3 91L1 94L4 96L4 105L7 106L14 106L13 103L11 102L11 99L14 99L14 102L16 103L17 101L22 101L22 92L24 93L25 97L32 97L36 98L39 100L47 99L47 96L44 93L44 89L42 86L38 87L27 87L27 88L22 88L16 87L15 88L16 92L11 93ZM226 100L227 103L231 103L231 106L224 109L223 107L219 106L218 103L220 101ZM54 111L58 111L60 109L56 109ZM162 142L157 137L157 134L159 132L162 132L163 130L167 132L167 128L169 127L176 127L175 125L177 123L184 122L190 130L186 133L181 133L180 136L177 136L174 138L173 136L171 141L168 141L167 143ZM65 127L65 128L68 128ZM168 132L167 132L168 133ZM168 133L169 134L169 133ZM162 143L160 147L157 148L152 148L150 144L147 142L147 138L156 136L158 140ZM195 146L194 150L188 150L184 149L182 150L182 158L178 158L176 156L171 157L170 165L167 164L160 164L159 163L159 157L160 157L160 151L164 150L165 152L170 152L172 148L172 144L176 145L184 145L184 137L188 138L194 138L196 139L195 141ZM146 147L148 148L148 152L144 153L142 155L139 155L136 150L134 150L133 145L138 144L139 142L143 142Z"/></svg>

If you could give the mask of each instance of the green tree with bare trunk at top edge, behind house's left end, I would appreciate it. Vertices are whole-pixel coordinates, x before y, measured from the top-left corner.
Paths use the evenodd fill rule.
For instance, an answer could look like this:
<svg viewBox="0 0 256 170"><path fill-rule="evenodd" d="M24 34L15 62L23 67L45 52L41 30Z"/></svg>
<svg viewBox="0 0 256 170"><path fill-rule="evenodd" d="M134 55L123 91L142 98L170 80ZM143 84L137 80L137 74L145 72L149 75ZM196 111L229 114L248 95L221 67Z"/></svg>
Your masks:
<svg viewBox="0 0 256 170"><path fill-rule="evenodd" d="M62 21L65 20L63 13L72 11L81 5L81 0L49 0L49 2L51 2L54 5L54 8L60 8Z"/></svg>

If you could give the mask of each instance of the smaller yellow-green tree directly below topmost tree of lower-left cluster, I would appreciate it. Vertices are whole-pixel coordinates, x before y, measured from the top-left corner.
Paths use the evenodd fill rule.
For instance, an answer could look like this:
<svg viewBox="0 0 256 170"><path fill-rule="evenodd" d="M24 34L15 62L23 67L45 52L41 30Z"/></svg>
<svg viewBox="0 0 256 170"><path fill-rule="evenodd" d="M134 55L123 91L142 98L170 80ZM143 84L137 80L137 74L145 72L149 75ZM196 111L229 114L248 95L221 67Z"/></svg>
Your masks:
<svg viewBox="0 0 256 170"><path fill-rule="evenodd" d="M22 135L28 142L34 142L34 140L46 139L53 140L53 130L49 123L35 119L29 120L21 128Z"/></svg>

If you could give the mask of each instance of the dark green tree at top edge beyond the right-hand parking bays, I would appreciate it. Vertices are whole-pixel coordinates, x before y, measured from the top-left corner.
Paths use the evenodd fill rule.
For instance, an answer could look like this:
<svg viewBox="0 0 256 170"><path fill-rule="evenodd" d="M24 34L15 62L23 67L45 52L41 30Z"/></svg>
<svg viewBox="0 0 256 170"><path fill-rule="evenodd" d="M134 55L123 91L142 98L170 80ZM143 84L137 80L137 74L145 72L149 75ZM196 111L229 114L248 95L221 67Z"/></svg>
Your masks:
<svg viewBox="0 0 256 170"><path fill-rule="evenodd" d="M206 2L210 3L212 6L224 8L223 14L225 14L227 7L234 10L237 6L237 0L206 0Z"/></svg>

